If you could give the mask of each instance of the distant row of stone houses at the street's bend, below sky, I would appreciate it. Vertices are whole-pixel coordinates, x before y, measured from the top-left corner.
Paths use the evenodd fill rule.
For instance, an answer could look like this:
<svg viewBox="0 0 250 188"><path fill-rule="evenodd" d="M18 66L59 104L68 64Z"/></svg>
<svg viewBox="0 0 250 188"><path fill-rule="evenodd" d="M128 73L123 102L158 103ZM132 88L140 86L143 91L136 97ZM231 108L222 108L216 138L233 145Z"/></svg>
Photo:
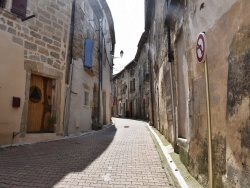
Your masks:
<svg viewBox="0 0 250 188"><path fill-rule="evenodd" d="M148 119L149 64L147 33L141 36L135 58L113 76L114 116Z"/></svg>

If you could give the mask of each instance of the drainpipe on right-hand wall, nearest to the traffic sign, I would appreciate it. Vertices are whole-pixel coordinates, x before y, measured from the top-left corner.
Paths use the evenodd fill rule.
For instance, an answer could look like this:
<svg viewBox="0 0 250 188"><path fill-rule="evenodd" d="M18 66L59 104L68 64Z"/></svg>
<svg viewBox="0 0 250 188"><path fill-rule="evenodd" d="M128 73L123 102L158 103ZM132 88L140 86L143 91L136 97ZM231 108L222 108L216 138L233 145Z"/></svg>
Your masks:
<svg viewBox="0 0 250 188"><path fill-rule="evenodd" d="M176 131L176 121L175 121L175 105L174 105L174 88L173 88L173 54L171 52L171 33L170 27L167 28L167 38L168 38L168 62L169 62L169 72L170 72L170 92L171 92L171 106L172 106L172 122L174 131L174 151L178 152L177 147L177 131Z"/></svg>

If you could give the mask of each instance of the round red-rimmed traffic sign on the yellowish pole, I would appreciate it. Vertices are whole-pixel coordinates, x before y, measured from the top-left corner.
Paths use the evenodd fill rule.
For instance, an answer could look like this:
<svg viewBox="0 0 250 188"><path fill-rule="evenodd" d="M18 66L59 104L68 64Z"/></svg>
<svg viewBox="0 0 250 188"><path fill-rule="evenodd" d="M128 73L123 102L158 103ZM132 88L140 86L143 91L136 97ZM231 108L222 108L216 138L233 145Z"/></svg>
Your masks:
<svg viewBox="0 0 250 188"><path fill-rule="evenodd" d="M203 63L206 57L206 36L200 33L196 43L196 57L199 63Z"/></svg>

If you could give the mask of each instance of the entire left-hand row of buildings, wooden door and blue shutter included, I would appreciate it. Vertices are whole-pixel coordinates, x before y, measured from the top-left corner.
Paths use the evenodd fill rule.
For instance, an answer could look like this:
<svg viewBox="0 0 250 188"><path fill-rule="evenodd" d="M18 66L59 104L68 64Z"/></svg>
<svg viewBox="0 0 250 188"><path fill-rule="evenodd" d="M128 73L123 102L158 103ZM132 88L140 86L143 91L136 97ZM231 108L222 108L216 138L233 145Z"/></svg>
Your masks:
<svg viewBox="0 0 250 188"><path fill-rule="evenodd" d="M1 0L0 36L0 145L111 121L115 33L106 1Z"/></svg>

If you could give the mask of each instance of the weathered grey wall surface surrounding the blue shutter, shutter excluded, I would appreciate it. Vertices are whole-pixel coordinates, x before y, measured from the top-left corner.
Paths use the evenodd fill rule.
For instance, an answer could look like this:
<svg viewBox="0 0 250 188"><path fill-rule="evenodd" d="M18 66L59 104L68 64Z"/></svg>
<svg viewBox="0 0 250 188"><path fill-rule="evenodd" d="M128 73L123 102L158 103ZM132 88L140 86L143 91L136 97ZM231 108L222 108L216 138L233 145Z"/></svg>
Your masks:
<svg viewBox="0 0 250 188"><path fill-rule="evenodd" d="M94 14L89 1L77 0L75 5L75 24L73 38L72 91L70 95L70 112L68 133L79 134L92 128L92 121L97 122L98 99L93 100L98 92L98 18ZM92 39L93 64L92 69L84 67L84 44L86 39ZM94 86L95 91L94 91ZM88 93L89 103L85 104L85 94ZM94 101L94 107L90 103ZM92 110L94 112L92 112ZM93 115L94 114L94 115ZM93 117L94 116L94 117Z"/></svg>

